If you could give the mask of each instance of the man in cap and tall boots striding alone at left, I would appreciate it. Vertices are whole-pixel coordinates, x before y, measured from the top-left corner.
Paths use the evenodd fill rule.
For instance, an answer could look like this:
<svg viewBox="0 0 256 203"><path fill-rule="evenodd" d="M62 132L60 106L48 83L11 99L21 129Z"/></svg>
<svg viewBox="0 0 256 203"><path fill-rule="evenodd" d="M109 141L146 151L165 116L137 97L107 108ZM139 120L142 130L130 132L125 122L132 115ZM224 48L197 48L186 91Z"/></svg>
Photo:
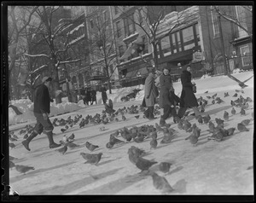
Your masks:
<svg viewBox="0 0 256 203"><path fill-rule="evenodd" d="M32 134L26 138L26 140L22 141L21 143L26 148L26 150L30 151L29 142L38 134L40 135L43 130L46 132L46 135L49 139L49 148L58 148L61 144L56 144L53 140L53 129L54 126L51 124L49 120L49 103L51 98L49 97L49 85L52 78L44 77L42 82L43 84L39 85L38 88L35 90L34 96L34 115L37 119L37 124L35 125Z"/></svg>

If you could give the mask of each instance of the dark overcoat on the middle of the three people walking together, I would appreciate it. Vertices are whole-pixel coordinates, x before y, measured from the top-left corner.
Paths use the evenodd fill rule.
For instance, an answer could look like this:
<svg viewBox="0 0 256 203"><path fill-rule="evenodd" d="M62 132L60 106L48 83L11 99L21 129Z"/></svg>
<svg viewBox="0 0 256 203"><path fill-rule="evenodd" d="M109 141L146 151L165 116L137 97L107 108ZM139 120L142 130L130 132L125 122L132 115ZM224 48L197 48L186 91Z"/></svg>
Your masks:
<svg viewBox="0 0 256 203"><path fill-rule="evenodd" d="M169 91L172 89L172 77L170 74L165 75L162 73L160 75L160 97L159 97L159 106L160 108L165 107L166 105L172 106L170 100Z"/></svg>

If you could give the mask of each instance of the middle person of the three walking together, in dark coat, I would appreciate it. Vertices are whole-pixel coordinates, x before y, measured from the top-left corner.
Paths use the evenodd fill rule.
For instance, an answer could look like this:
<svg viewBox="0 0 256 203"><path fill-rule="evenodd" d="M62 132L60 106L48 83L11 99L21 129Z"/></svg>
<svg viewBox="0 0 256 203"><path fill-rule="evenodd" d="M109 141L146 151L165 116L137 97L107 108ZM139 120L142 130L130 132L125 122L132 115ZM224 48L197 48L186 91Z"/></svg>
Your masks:
<svg viewBox="0 0 256 203"><path fill-rule="evenodd" d="M173 118L177 117L174 101L179 102L172 87L170 69L164 67L163 73L160 75L160 108L163 108L163 115L160 116L161 126L166 125L166 119L170 113L172 113Z"/></svg>

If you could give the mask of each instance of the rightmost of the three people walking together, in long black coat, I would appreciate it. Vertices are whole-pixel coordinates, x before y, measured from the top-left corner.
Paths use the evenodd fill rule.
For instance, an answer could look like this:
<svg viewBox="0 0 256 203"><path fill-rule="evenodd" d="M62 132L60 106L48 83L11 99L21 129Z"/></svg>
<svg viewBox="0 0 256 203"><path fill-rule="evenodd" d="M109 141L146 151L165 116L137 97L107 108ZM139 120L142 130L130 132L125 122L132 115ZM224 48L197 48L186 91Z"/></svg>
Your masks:
<svg viewBox="0 0 256 203"><path fill-rule="evenodd" d="M178 117L183 118L184 113L186 112L188 107L191 107L195 112L195 118L201 115L200 111L198 110L198 102L193 92L193 86L195 83L191 82L191 67L187 66L186 70L183 70L181 74L181 83L183 85L182 94L180 96L180 108L178 110Z"/></svg>

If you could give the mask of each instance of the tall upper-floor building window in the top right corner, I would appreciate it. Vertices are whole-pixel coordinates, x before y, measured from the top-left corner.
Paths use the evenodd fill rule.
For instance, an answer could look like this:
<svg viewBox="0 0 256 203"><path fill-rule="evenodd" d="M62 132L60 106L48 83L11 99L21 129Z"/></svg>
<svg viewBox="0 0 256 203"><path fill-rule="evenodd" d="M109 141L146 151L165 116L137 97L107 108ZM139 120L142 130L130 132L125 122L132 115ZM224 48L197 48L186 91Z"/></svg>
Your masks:
<svg viewBox="0 0 256 203"><path fill-rule="evenodd" d="M246 16L246 10L243 8L243 6L236 6L236 16L241 26L247 30L247 23L246 23L247 16ZM240 26L237 26L237 28L238 28L239 38L244 38L248 36L248 33L245 30L241 29Z"/></svg>

